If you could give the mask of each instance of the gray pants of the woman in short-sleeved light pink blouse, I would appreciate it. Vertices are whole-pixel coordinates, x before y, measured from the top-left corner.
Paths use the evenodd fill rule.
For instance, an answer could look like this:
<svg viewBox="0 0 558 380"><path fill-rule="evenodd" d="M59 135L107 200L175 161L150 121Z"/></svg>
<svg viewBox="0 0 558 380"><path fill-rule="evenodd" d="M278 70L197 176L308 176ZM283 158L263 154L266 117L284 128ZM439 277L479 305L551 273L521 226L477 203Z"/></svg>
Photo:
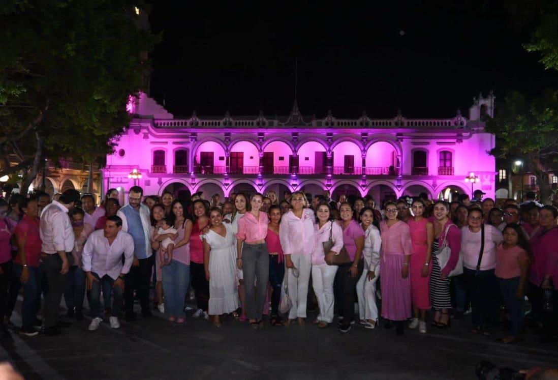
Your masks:
<svg viewBox="0 0 558 380"><path fill-rule="evenodd" d="M270 253L266 244L242 245L242 272L244 293L246 294L246 316L257 321L262 319L263 305L266 303L267 282L270 278ZM254 291L254 279L256 289ZM254 294L256 293L256 294Z"/></svg>

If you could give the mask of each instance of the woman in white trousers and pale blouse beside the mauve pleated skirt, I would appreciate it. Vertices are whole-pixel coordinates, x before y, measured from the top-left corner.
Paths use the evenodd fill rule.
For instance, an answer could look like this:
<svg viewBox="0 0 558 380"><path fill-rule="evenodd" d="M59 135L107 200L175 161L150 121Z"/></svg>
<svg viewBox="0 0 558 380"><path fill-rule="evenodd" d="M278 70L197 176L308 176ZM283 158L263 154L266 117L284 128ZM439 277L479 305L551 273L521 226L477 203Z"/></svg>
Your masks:
<svg viewBox="0 0 558 380"><path fill-rule="evenodd" d="M376 306L376 281L380 272L380 248L382 238L378 227L374 225L374 210L365 207L360 210L360 225L364 237L364 270L357 283L357 297L360 323L367 329L373 329L378 322Z"/></svg>

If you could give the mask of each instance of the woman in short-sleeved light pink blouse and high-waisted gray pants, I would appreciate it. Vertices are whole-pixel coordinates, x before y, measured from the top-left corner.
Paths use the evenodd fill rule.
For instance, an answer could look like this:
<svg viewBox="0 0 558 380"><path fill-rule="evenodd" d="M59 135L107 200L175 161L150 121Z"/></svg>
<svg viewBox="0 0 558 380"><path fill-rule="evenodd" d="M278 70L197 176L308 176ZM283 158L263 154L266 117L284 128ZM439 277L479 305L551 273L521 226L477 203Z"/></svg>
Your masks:
<svg viewBox="0 0 558 380"><path fill-rule="evenodd" d="M246 305L242 307L246 306L246 315L253 329L263 327L262 312L270 276L270 253L266 245L270 220L267 213L260 211L262 203L262 194L252 196L248 212L238 220L237 232L237 266L242 269L247 284L244 287Z"/></svg>

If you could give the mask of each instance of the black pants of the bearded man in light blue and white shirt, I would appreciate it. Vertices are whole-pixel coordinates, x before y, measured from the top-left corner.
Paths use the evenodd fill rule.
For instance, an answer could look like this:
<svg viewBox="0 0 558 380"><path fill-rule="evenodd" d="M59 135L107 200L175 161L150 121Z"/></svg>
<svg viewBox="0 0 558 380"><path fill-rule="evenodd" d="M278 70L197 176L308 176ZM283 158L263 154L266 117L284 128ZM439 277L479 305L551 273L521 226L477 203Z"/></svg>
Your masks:
<svg viewBox="0 0 558 380"><path fill-rule="evenodd" d="M124 279L124 312L127 316L134 314L134 290L137 292L140 300L141 311L149 310L149 281L151 279L151 270L153 268L154 255L147 259L139 260L140 265L132 266L126 278Z"/></svg>

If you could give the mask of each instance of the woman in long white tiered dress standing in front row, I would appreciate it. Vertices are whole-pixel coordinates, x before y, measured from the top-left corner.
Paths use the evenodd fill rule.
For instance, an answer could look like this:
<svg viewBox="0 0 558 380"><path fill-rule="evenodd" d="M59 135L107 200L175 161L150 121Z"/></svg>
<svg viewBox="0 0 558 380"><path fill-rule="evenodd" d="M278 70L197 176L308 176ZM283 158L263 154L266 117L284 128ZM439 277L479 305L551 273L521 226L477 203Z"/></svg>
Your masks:
<svg viewBox="0 0 558 380"><path fill-rule="evenodd" d="M232 226L223 223L222 211L211 208L209 231L203 235L205 277L209 281L209 315L221 325L219 316L238 308L236 247Z"/></svg>

